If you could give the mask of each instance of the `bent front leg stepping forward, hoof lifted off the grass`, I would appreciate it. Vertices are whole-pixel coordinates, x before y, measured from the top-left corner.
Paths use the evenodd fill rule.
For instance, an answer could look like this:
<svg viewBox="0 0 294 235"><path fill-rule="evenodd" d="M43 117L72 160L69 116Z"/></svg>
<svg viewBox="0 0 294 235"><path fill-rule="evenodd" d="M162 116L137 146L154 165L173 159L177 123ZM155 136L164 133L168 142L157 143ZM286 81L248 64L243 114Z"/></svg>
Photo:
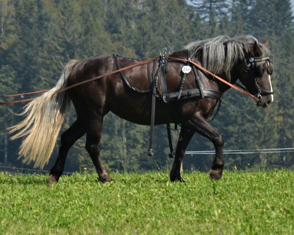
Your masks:
<svg viewBox="0 0 294 235"><path fill-rule="evenodd" d="M221 138L220 133L218 133L210 124L209 122L203 117L202 113L197 112L189 120L185 123L185 126L188 128L193 128L197 133L200 135L208 138L211 140L216 149L215 159L211 165L210 169L210 179L211 180L218 180L221 178L222 169L223 169L223 157L222 157L222 150L223 150L223 140Z"/></svg>

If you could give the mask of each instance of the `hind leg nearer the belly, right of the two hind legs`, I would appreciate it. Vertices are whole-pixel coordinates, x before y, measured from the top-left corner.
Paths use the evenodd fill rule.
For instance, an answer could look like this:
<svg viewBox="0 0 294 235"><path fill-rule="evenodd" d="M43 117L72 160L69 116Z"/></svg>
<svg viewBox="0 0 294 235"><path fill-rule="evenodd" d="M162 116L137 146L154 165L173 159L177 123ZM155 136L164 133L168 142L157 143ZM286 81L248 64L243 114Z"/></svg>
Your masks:
<svg viewBox="0 0 294 235"><path fill-rule="evenodd" d="M97 170L99 180L101 182L110 182L111 178L108 176L100 158L100 140L102 134L102 119L91 119L88 123L86 150L88 151L93 164Z"/></svg>

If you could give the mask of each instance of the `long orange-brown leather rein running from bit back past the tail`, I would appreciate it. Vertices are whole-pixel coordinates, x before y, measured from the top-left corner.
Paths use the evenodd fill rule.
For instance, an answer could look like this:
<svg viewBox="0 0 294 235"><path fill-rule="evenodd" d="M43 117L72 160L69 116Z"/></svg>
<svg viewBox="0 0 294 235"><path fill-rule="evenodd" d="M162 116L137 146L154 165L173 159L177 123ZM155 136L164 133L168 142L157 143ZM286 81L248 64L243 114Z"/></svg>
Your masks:
<svg viewBox="0 0 294 235"><path fill-rule="evenodd" d="M196 66L197 68L199 68L200 70L212 75L214 78L220 80L221 82L225 83L226 85L232 87L233 89L237 90L238 92L241 92L245 95L247 95L248 97L258 101L259 98L250 94L249 92L245 91L245 90L242 90L240 89L239 87L227 82L226 80L222 79L221 77L219 77L218 75L212 73L211 71L208 71L206 70L205 68L203 68L202 66L198 65L197 63L195 63L194 61L192 60L188 60L188 59L180 59L180 58L174 58L174 57L171 57L171 56L163 56L163 55L160 55L160 56L155 56L155 57L152 57L150 59L147 59L147 60L144 60L144 61L140 61L136 64L132 64L132 65L129 65L129 66L126 66L126 67L123 67L123 68L120 68L118 70L115 70L115 71L111 71L109 73L105 73L105 74L102 74L102 75L99 75L99 76L96 76L96 77L93 77L91 79L88 79L88 80L85 80L85 81L82 81L82 82L78 82L78 83L75 83L71 86L68 86L64 89L61 89L55 93L53 93L53 95L55 94L59 94L61 92L65 92L67 90L70 90L74 87L77 87L77 86L80 86L82 84L85 84L85 83L88 83L88 82L92 82L92 81L95 81L97 79L100 79L102 77L106 77L106 76L109 76L109 75L112 75L112 74L115 74L115 73L118 73L118 72L122 72L122 71L125 71L125 70L128 70L128 69L131 69L131 68L134 68L134 67L137 67L137 66L140 66L140 65L144 65L144 64L147 64L148 62L151 62L151 61L154 61L158 58L161 58L161 57L165 57L165 58L170 58L170 59L173 59L175 61L182 61L182 62L187 62L187 63L191 63L193 64L194 66ZM19 93L19 94L8 94L8 95L3 95L2 97L13 97L13 96L22 96L22 95L28 95L28 94L40 94L40 93L45 93L45 92L48 92L49 90L51 89L45 89L45 90L40 90L40 91L34 91L34 92L26 92L26 93ZM6 105L6 104L16 104L16 103L22 103L22 102L27 102L27 101L32 101L34 100L35 98L28 98L28 99L20 99L20 100L12 100L12 101L2 101L0 102L0 105Z"/></svg>

